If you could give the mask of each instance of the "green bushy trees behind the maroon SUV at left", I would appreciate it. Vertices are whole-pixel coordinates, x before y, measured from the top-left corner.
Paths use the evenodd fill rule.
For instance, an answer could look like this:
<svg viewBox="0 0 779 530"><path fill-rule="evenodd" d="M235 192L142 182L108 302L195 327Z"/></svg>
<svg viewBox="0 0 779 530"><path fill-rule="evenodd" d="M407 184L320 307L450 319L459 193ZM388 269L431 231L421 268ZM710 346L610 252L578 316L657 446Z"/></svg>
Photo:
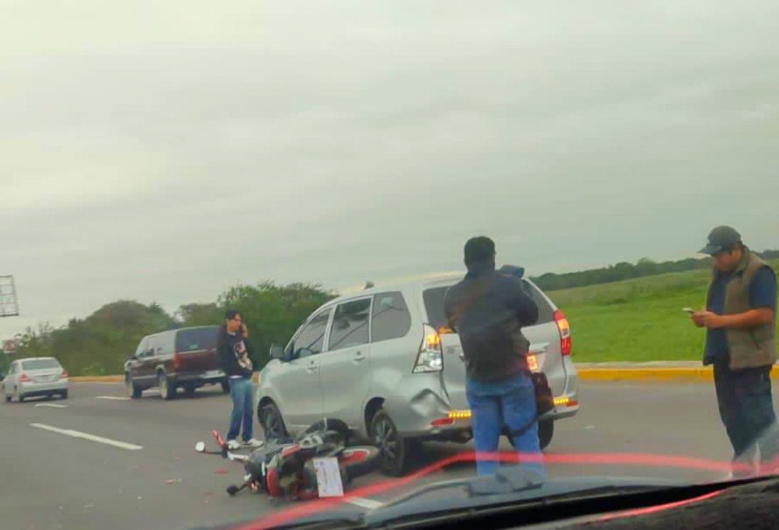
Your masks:
<svg viewBox="0 0 779 530"><path fill-rule="evenodd" d="M266 281L236 285L215 302L185 304L173 315L156 303L120 300L62 327L41 323L27 328L19 337L13 358L56 357L74 376L123 373L125 360L144 336L176 327L220 324L224 310L232 308L244 317L256 355L264 365L270 345L286 344L303 320L333 296L319 285ZM12 360L10 355L0 358L6 366ZM3 373L6 366L0 366Z"/></svg>

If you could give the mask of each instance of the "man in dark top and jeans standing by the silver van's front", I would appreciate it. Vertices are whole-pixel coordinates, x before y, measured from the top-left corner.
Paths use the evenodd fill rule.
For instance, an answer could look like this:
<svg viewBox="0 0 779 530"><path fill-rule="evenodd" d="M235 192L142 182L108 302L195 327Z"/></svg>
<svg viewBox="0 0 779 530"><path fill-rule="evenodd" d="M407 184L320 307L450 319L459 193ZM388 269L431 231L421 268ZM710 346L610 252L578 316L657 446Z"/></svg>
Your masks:
<svg viewBox="0 0 779 530"><path fill-rule="evenodd" d="M217 338L217 352L222 369L230 383L230 397L233 411L230 416L230 430L227 432L227 446L238 449L238 434L243 423L243 442L250 447L259 447L261 442L252 437L254 428L254 386L252 385L252 345L247 340L249 331L243 323L241 313L227 309L224 313L224 326L220 327Z"/></svg>

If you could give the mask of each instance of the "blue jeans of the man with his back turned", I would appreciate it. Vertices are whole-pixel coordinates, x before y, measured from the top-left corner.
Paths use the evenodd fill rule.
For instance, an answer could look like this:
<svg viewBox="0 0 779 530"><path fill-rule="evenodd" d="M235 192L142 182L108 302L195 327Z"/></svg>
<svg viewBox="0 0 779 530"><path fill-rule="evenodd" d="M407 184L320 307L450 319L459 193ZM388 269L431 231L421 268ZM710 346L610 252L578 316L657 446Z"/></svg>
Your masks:
<svg viewBox="0 0 779 530"><path fill-rule="evenodd" d="M530 424L523 433L512 436L511 443L520 455L530 456L524 459L520 456L520 466L545 476L541 447L538 445L538 420L534 421L536 402L530 374L519 373L505 380L489 382L469 379L466 390L468 404L471 405L478 475L497 471L499 462L485 459L484 455L498 451L504 426L509 431L519 431Z"/></svg>

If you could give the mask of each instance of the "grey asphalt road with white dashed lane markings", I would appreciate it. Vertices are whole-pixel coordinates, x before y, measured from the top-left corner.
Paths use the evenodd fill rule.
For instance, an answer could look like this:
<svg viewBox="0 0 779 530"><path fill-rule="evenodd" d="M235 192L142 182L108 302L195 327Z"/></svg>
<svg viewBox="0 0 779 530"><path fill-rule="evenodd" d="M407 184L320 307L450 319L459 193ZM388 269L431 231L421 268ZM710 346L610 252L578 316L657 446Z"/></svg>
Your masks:
<svg viewBox="0 0 779 530"><path fill-rule="evenodd" d="M192 528L261 518L298 505L252 493L227 496L224 488L240 482L241 468L193 450L197 440L210 441L210 429L227 427L229 399L217 388L174 401L153 394L129 401L122 384L72 383L70 394L67 401L0 405L0 528ZM585 383L580 398L580 414L556 425L546 452L555 460L548 465L549 475L690 481L724 475L662 462L633 465L622 458L616 463L564 461L569 455L629 452L724 464L730 449L710 383ZM80 437L61 430L77 431ZM470 444L428 444L419 465L471 449ZM368 504L424 482L473 473L472 465L456 465L374 496ZM354 487L382 480L377 473Z"/></svg>

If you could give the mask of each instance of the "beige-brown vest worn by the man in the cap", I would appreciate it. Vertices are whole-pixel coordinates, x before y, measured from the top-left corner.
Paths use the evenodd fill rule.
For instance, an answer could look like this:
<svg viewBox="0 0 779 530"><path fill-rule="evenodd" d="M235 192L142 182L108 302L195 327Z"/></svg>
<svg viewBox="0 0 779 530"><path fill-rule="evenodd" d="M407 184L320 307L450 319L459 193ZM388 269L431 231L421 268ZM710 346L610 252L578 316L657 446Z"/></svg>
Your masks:
<svg viewBox="0 0 779 530"><path fill-rule="evenodd" d="M725 289L725 315L746 313L749 309L749 284L756 272L770 266L749 249L738 263ZM773 272L773 270L772 270ZM717 274L716 272L714 274ZM777 361L776 314L774 321L749 329L727 328L730 368L733 370L768 366Z"/></svg>

